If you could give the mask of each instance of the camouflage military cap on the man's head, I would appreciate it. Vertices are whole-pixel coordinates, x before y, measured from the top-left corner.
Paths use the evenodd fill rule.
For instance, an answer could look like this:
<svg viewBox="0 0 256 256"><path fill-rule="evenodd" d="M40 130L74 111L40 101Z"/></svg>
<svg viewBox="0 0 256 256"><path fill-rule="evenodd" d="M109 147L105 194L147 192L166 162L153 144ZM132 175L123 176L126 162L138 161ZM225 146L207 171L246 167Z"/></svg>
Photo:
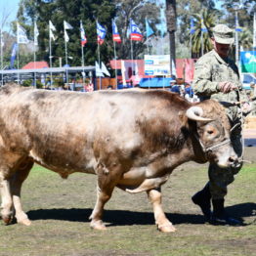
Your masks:
<svg viewBox="0 0 256 256"><path fill-rule="evenodd" d="M234 35L233 29L226 24L217 24L213 27L213 37L217 43L220 44L233 44Z"/></svg>

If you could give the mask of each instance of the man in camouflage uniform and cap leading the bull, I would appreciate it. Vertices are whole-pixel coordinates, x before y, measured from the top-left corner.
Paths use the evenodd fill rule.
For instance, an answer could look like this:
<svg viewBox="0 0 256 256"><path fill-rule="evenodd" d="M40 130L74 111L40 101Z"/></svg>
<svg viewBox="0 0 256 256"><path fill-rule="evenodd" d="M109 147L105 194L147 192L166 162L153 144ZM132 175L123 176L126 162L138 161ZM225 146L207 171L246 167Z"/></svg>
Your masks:
<svg viewBox="0 0 256 256"><path fill-rule="evenodd" d="M213 50L202 56L195 65L193 90L202 101L211 98L226 103L227 114L234 127L231 141L235 152L241 156L242 112L248 112L250 105L245 103L233 106L235 102L248 101L245 92L242 91L238 68L235 62L228 58L230 47L234 43L233 30L225 24L217 24L213 28L211 40ZM241 164L229 169L222 169L216 164L209 165L209 182L192 196L192 201L201 208L206 221L212 224L240 224L238 220L229 217L224 209L227 186L234 182L234 176L240 168Z"/></svg>

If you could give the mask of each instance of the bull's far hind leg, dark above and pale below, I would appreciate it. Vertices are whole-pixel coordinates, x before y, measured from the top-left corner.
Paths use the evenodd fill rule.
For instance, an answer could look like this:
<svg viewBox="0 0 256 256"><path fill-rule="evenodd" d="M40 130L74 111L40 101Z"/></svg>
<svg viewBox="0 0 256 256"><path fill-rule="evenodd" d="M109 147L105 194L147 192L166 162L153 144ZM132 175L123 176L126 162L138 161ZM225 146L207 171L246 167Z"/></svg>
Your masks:
<svg viewBox="0 0 256 256"><path fill-rule="evenodd" d="M15 208L15 217L18 223L29 226L27 215L23 212L21 207L21 186L24 180L27 178L31 168L33 166L33 160L29 157L25 158L19 165L16 173L11 179L11 192L13 195L13 203Z"/></svg>

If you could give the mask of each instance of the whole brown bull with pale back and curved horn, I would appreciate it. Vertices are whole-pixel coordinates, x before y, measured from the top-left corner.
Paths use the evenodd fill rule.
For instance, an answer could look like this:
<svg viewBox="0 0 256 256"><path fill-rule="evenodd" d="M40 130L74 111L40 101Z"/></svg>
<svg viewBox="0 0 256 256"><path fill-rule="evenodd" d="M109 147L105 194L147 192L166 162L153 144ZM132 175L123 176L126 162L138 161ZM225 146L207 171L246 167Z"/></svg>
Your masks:
<svg viewBox="0 0 256 256"><path fill-rule="evenodd" d="M237 162L224 107L213 100L192 104L164 90L55 92L0 89L0 190L5 224L21 207L21 185L34 162L59 173L98 176L90 226L105 230L104 206L115 187L147 192L155 224L174 232L161 205L161 186L187 161ZM15 211L13 211L15 209Z"/></svg>

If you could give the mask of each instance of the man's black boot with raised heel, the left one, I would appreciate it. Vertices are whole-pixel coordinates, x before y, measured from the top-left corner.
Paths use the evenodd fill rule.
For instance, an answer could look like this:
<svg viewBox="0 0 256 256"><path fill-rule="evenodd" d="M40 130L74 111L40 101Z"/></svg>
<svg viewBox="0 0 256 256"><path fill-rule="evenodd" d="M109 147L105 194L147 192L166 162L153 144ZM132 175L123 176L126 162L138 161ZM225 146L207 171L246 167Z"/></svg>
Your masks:
<svg viewBox="0 0 256 256"><path fill-rule="evenodd" d="M211 220L211 193L209 183L200 192L192 195L192 202L201 208L205 221L209 222Z"/></svg>

